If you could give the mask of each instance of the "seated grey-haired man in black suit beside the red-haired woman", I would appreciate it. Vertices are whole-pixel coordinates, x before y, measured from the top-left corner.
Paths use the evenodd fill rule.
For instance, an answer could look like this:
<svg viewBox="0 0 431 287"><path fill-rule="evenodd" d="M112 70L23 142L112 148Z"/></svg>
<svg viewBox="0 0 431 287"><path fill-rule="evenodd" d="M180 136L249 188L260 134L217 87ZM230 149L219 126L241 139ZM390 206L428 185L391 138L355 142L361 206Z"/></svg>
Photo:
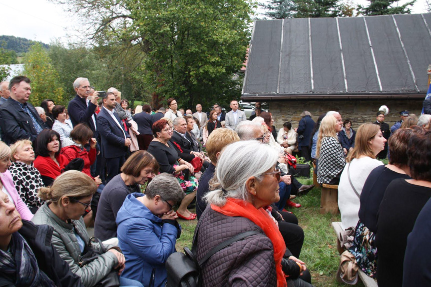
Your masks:
<svg viewBox="0 0 431 287"><path fill-rule="evenodd" d="M174 119L174 132L170 139L173 143L178 156L185 161L191 162L195 157L203 159L203 155L193 150L193 143L187 137L187 122L184 118Z"/></svg>

